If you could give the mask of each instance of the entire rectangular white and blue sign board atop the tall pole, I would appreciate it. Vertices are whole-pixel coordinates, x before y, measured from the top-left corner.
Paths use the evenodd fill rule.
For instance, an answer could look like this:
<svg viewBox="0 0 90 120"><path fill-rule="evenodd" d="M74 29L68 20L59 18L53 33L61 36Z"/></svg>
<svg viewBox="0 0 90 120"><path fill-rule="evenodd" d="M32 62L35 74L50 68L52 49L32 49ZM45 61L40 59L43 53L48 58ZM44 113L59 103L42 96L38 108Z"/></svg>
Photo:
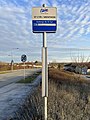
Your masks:
<svg viewBox="0 0 90 120"><path fill-rule="evenodd" d="M33 32L56 32L57 28L56 7L32 8Z"/></svg>

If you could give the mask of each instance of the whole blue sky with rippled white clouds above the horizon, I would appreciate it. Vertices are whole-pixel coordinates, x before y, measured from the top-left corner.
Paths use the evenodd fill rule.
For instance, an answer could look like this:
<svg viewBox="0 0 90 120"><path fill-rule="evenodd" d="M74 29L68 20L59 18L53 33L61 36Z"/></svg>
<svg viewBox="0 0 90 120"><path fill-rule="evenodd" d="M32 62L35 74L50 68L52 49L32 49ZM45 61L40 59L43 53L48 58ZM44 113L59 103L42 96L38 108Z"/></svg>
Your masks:
<svg viewBox="0 0 90 120"><path fill-rule="evenodd" d="M32 7L57 7L57 31L47 33L48 62L90 61L90 0L0 0L0 61L42 59L42 33L32 32ZM19 49L17 49L19 48Z"/></svg>

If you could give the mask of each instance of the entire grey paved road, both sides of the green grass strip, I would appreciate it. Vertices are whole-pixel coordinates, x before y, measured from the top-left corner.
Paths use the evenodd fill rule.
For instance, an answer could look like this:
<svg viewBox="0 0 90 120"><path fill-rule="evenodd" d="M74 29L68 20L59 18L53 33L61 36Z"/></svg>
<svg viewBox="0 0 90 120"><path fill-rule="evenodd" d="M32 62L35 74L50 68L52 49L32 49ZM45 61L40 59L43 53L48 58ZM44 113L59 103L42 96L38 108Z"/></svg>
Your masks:
<svg viewBox="0 0 90 120"><path fill-rule="evenodd" d="M40 69L26 70L26 76L30 76ZM41 76L38 76L32 83L16 83L24 78L23 70L13 71L13 73L0 74L0 120L9 120L18 111L27 96L32 94L40 85Z"/></svg>

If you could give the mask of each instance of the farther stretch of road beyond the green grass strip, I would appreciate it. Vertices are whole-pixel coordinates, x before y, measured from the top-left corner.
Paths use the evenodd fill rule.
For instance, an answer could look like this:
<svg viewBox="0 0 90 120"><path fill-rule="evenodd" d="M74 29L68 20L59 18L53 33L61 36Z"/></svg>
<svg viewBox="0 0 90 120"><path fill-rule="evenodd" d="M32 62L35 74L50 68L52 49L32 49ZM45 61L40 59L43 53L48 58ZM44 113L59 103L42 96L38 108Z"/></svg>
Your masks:
<svg viewBox="0 0 90 120"><path fill-rule="evenodd" d="M40 71L40 69L26 69L25 76L32 75L36 71ZM23 78L24 78L24 70L15 70L10 73L0 74L0 88L9 85L11 83L15 83Z"/></svg>

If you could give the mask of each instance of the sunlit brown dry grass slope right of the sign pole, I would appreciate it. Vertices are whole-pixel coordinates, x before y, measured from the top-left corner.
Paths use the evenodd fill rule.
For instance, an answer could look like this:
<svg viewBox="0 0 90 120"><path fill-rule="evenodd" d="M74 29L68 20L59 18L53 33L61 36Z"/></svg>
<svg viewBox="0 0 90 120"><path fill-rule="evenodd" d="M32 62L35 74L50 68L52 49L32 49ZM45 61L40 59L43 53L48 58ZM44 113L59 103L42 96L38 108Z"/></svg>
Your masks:
<svg viewBox="0 0 90 120"><path fill-rule="evenodd" d="M73 74L49 72L48 118L50 120L89 120L90 83ZM74 79L73 79L74 78Z"/></svg>

